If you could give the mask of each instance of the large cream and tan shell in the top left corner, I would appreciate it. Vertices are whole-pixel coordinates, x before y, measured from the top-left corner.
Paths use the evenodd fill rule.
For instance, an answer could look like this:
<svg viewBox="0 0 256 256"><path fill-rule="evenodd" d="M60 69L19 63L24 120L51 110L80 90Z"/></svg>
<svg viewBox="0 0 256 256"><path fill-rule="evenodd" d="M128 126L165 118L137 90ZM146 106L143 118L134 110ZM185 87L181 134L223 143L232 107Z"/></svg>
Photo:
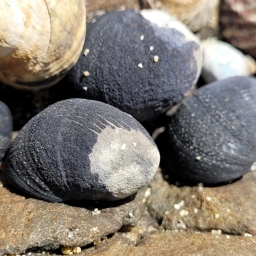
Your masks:
<svg viewBox="0 0 256 256"><path fill-rule="evenodd" d="M36 90L60 81L84 44L84 0L1 0L0 81Z"/></svg>

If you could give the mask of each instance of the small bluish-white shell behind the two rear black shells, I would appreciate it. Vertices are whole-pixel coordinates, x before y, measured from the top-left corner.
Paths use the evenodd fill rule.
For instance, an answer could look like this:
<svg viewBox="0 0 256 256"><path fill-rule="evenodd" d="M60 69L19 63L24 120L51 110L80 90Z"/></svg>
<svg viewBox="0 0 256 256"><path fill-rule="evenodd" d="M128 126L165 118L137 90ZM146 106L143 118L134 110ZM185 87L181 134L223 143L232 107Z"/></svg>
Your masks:
<svg viewBox="0 0 256 256"><path fill-rule="evenodd" d="M209 38L202 41L202 47L202 77L207 83L234 76L250 76L255 72L255 61L228 43Z"/></svg>

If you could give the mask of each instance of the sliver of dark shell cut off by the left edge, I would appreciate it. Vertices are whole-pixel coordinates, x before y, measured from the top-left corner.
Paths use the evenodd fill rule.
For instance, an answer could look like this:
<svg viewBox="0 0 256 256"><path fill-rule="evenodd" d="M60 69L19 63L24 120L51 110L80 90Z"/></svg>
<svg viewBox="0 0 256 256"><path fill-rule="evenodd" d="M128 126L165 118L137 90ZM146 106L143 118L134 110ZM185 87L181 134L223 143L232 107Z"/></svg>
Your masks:
<svg viewBox="0 0 256 256"><path fill-rule="evenodd" d="M13 131L12 113L4 102L0 101L0 160L11 143Z"/></svg>

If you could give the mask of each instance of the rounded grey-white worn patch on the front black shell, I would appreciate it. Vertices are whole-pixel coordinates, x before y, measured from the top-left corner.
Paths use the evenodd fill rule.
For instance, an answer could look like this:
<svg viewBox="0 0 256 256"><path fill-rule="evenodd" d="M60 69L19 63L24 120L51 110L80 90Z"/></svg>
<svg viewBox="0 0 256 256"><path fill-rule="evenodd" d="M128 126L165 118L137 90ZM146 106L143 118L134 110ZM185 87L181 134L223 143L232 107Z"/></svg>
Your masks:
<svg viewBox="0 0 256 256"><path fill-rule="evenodd" d="M107 126L99 133L89 159L91 172L99 175L99 182L116 198L124 198L152 179L160 156L141 131Z"/></svg>

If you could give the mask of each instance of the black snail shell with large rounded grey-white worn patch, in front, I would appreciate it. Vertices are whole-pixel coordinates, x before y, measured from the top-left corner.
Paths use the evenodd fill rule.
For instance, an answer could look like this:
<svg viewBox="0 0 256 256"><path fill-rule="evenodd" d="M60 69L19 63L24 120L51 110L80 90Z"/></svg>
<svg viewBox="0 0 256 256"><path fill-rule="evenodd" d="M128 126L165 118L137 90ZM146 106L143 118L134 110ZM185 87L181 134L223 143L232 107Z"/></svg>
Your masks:
<svg viewBox="0 0 256 256"><path fill-rule="evenodd" d="M147 184L159 151L132 116L86 99L52 104L12 143L4 180L49 202L117 200Z"/></svg>

